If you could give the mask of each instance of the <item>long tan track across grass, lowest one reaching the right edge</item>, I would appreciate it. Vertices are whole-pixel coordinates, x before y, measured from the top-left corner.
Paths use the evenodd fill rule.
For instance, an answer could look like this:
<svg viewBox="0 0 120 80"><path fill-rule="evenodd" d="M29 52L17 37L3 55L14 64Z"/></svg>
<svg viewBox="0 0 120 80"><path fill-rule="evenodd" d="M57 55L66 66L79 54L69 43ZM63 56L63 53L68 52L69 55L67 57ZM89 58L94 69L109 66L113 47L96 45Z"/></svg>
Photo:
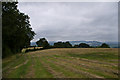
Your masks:
<svg viewBox="0 0 120 80"><path fill-rule="evenodd" d="M84 67L84 68L90 68L90 69L93 69L93 70L96 70L96 71L103 71L103 72L107 72L107 73L112 73L112 75L116 75L118 76L118 71L117 70L113 70L113 69L108 69L108 68L101 68L101 66L92 66L92 65L88 65L89 63L86 63L86 62L82 62L82 61L75 61L75 60L68 60L68 59L63 59L63 58L58 58L58 57L53 57L55 59L58 59L59 61L65 61L65 62L68 62L68 63L72 63L76 66L81 66L81 67Z"/></svg>

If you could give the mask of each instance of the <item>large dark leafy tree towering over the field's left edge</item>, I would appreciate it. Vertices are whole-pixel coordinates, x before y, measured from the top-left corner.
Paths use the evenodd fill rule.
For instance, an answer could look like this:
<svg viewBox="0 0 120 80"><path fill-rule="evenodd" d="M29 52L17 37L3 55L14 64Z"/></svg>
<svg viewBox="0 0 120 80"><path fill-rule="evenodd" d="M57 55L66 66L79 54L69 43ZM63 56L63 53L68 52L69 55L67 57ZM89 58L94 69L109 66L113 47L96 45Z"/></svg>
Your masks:
<svg viewBox="0 0 120 80"><path fill-rule="evenodd" d="M18 2L2 2L3 58L28 47L35 35L30 28L29 16L21 13L17 4Z"/></svg>

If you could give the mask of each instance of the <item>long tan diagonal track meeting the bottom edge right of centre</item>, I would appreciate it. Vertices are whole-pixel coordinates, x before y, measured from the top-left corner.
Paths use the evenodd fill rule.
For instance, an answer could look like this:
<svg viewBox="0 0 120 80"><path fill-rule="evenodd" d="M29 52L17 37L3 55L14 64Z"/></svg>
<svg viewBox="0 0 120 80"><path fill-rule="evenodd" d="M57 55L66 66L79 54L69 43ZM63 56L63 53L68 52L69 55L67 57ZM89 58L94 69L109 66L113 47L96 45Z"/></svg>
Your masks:
<svg viewBox="0 0 120 80"><path fill-rule="evenodd" d="M75 68L73 68L71 65L67 65L67 64L65 64L64 62L56 62L56 61L54 61L54 60L52 60L52 59L48 59L49 61L51 61L52 63L54 63L55 65L60 65L60 66L62 66L62 67L64 67L65 69L67 69L67 70L70 70L70 71L72 71L72 72L75 72L76 74L83 74L83 75L86 75L87 77L89 76L89 78L104 78L104 77L102 77L102 76L98 76L98 75L95 75L95 74L91 74L91 73L89 73L89 72L85 72L85 71L82 71L82 70L78 70L78 69L75 69ZM67 65L67 66L66 66Z"/></svg>

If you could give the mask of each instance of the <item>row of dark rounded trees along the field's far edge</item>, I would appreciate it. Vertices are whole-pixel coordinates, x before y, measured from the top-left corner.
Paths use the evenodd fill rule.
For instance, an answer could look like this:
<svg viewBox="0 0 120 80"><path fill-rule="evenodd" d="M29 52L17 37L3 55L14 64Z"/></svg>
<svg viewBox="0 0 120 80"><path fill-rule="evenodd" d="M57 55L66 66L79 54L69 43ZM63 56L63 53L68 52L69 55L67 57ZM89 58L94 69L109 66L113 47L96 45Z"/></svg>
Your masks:
<svg viewBox="0 0 120 80"><path fill-rule="evenodd" d="M110 46L106 43L103 43L101 46L90 46L86 43L80 43L78 45L72 46L72 44L69 41L66 42L56 42L54 45L50 45L48 41L45 38L41 38L36 42L38 47L43 47L45 49L48 48L110 48Z"/></svg>

